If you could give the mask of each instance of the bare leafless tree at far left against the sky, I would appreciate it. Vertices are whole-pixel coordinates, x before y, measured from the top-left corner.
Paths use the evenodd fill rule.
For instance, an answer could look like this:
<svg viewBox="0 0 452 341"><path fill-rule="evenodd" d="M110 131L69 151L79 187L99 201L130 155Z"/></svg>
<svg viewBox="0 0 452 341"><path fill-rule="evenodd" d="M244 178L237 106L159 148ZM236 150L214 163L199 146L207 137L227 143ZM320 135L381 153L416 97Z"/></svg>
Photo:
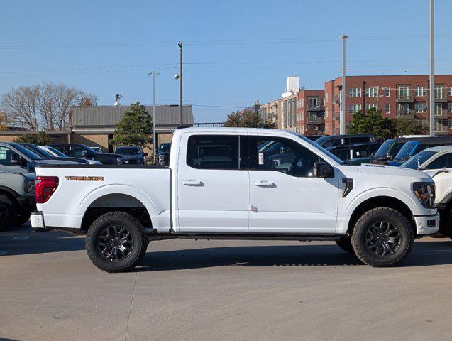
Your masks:
<svg viewBox="0 0 452 341"><path fill-rule="evenodd" d="M13 124L30 130L56 130L69 125L72 107L96 105L97 96L64 84L43 83L12 89L1 104Z"/></svg>

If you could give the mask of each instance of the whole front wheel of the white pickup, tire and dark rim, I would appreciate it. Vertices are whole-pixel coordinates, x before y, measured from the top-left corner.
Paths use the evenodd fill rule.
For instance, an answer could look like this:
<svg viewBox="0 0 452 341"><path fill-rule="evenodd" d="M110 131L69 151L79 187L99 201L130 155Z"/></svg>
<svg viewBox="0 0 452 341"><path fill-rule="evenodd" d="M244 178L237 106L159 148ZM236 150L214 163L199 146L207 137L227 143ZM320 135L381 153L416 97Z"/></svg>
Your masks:
<svg viewBox="0 0 452 341"><path fill-rule="evenodd" d="M413 244L411 224L389 207L365 212L356 222L351 237L356 256L374 267L397 266L407 258Z"/></svg>

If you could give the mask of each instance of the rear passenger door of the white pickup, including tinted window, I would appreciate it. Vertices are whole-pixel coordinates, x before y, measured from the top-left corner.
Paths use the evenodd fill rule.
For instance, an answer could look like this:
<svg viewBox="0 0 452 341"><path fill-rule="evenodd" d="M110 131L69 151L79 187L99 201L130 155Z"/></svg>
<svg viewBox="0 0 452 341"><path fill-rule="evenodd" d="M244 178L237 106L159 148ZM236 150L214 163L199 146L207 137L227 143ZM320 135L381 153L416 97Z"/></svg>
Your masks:
<svg viewBox="0 0 452 341"><path fill-rule="evenodd" d="M179 232L248 232L249 177L240 165L246 152L240 141L234 134L182 134L175 174Z"/></svg>

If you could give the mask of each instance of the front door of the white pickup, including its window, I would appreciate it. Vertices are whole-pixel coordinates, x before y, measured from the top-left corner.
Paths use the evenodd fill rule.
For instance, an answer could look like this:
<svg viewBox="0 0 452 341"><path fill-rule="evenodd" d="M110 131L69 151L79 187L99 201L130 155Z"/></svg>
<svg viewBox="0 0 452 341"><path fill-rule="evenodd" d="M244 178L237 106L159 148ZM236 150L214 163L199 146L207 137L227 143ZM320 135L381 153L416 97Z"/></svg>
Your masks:
<svg viewBox="0 0 452 341"><path fill-rule="evenodd" d="M323 161L299 141L248 136L250 233L333 234L338 175L316 178Z"/></svg>

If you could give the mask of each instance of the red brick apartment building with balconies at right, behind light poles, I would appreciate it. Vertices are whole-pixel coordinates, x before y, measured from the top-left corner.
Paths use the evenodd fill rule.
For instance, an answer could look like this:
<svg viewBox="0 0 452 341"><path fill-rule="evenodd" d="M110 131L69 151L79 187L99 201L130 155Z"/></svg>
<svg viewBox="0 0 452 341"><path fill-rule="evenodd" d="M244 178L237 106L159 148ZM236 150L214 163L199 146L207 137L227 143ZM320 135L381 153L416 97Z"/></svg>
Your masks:
<svg viewBox="0 0 452 341"><path fill-rule="evenodd" d="M385 117L416 119L429 125L429 76L382 75L346 77L346 126L353 113L376 107ZM339 133L342 78L325 82L325 134ZM435 131L452 134L452 75L435 75Z"/></svg>

